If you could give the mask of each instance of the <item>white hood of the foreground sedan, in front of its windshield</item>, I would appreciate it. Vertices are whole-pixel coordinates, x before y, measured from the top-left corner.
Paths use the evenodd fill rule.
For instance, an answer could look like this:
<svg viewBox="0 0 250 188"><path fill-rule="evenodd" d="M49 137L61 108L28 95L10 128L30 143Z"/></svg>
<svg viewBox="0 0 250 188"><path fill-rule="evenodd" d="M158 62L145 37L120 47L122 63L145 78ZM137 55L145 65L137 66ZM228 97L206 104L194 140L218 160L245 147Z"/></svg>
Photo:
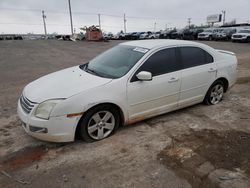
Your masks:
<svg viewBox="0 0 250 188"><path fill-rule="evenodd" d="M81 70L79 66L75 66L31 82L24 88L23 94L30 101L41 103L48 99L69 98L80 92L107 84L111 80L92 75Z"/></svg>

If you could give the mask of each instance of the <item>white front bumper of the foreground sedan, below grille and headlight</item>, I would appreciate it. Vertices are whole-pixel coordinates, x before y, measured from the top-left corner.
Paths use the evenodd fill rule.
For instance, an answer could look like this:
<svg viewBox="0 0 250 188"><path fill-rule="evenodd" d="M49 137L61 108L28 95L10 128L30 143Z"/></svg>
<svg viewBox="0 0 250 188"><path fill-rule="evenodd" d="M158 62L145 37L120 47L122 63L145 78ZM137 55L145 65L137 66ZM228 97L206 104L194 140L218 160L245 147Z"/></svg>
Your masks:
<svg viewBox="0 0 250 188"><path fill-rule="evenodd" d="M27 134L37 139L49 142L74 141L75 130L80 117L68 118L65 115L50 117L49 120L44 120L33 115L34 109L30 112L30 114L27 114L23 111L20 105L20 100L18 101L17 113L22 121L22 127Z"/></svg>

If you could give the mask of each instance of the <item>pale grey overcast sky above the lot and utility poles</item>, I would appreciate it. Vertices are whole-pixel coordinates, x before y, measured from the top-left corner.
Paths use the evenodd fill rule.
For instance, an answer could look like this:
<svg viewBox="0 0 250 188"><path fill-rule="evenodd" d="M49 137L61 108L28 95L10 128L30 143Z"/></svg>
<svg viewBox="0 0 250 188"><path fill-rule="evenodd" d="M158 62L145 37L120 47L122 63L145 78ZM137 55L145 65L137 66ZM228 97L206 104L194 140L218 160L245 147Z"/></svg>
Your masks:
<svg viewBox="0 0 250 188"><path fill-rule="evenodd" d="M206 17L226 10L226 22L250 22L250 0L71 0L76 32L83 26L97 25L101 14L104 31L127 32L205 24ZM41 11L47 16L48 33L70 33L68 0L0 0L0 33L43 33ZM156 23L156 24L155 24Z"/></svg>

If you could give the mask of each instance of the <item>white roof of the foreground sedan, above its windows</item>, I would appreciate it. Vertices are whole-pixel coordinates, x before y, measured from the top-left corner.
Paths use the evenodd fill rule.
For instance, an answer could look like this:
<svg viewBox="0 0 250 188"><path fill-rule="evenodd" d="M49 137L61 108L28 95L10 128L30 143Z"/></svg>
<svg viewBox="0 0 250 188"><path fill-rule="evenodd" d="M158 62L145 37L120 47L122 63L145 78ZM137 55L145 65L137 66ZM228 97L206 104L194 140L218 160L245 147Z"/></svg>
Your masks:
<svg viewBox="0 0 250 188"><path fill-rule="evenodd" d="M141 48L153 49L175 45L199 45L200 43L184 40L173 40L173 39L154 39L154 40L135 40L121 43L120 45L136 46Z"/></svg>

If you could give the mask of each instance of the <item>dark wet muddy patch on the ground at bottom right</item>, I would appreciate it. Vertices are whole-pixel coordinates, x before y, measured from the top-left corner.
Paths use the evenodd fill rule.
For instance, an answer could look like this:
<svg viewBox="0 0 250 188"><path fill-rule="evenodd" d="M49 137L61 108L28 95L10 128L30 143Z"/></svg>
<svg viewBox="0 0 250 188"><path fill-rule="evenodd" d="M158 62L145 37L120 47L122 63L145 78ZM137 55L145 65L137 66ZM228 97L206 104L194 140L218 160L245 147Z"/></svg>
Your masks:
<svg viewBox="0 0 250 188"><path fill-rule="evenodd" d="M176 136L158 159L194 187L218 187L208 178L215 169L240 171L250 178L250 134L200 130Z"/></svg>

